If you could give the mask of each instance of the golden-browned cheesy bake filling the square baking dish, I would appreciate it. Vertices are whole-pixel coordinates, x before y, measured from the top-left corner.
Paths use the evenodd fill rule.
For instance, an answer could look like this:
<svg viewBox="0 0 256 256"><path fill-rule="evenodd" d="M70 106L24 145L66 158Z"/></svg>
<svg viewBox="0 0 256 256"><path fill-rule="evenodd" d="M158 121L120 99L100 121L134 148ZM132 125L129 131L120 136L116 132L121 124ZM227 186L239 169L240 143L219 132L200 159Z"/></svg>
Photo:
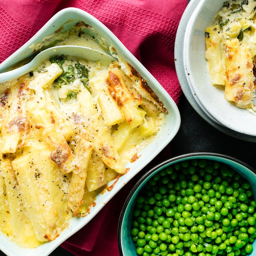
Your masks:
<svg viewBox="0 0 256 256"><path fill-rule="evenodd" d="M71 31L67 42L87 37ZM52 241L71 217L86 216L160 129L167 110L117 57L105 67L54 56L1 84L0 229L24 247Z"/></svg>

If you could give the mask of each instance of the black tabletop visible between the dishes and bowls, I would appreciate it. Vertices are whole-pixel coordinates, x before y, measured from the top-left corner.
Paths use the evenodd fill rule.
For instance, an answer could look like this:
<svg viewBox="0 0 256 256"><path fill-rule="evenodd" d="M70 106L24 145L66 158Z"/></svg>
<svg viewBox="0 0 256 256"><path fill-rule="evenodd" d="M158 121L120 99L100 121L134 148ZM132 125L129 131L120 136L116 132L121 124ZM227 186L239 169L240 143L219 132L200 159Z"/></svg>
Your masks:
<svg viewBox="0 0 256 256"><path fill-rule="evenodd" d="M163 150L152 163L148 164L148 166L130 182L135 183L148 169L163 160L190 152L201 151L226 154L233 156L256 169L254 142L246 142L236 139L212 127L200 117L194 108L191 107L184 95L181 97L178 107L181 114L181 127L168 146L168 150L171 148L171 155L166 154ZM107 252L104 252L104 255L107 255L106 253ZM0 251L0 256L4 255L5 254ZM60 255L73 256L74 254L60 246L50 254L50 256ZM89 255L97 256L93 254ZM17 256L19 255L17 254Z"/></svg>

